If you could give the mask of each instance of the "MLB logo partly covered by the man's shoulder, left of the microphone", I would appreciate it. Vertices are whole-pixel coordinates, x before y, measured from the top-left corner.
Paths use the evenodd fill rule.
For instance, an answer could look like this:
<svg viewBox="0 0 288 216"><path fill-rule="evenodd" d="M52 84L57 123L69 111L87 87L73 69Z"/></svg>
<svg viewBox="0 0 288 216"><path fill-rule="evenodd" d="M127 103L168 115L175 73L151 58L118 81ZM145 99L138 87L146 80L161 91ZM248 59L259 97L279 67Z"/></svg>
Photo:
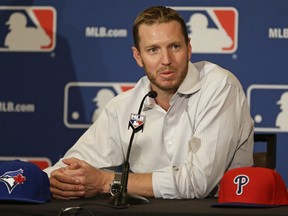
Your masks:
<svg viewBox="0 0 288 216"><path fill-rule="evenodd" d="M68 128L88 128L112 98L134 86L135 83L68 83L64 93L64 124Z"/></svg>

